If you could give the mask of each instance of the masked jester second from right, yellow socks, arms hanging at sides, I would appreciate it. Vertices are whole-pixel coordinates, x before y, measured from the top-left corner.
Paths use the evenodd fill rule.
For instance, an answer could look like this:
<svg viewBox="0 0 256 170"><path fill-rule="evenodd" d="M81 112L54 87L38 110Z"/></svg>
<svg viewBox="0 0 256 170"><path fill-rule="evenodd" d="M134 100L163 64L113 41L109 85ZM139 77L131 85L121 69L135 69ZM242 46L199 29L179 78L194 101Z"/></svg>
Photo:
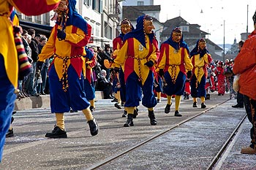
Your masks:
<svg viewBox="0 0 256 170"><path fill-rule="evenodd" d="M178 39L174 40L176 35ZM183 40L180 28L174 28L170 38L162 43L158 67L159 75L165 83L164 92L167 94L165 113L170 112L171 96L175 95L175 116L181 117L182 115L179 113L178 108L181 102L181 95L184 94L186 70L191 72L193 66L189 59L189 47Z"/></svg>

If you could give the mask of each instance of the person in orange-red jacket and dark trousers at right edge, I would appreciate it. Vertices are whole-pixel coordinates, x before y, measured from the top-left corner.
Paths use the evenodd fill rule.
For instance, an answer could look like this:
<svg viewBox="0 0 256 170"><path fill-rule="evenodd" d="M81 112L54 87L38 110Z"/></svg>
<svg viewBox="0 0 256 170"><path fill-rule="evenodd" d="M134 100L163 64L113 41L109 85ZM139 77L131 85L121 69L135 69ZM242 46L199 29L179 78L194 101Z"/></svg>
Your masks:
<svg viewBox="0 0 256 170"><path fill-rule="evenodd" d="M255 30L244 42L233 66L233 73L240 74L239 93L244 95L244 107L249 122L252 123L251 144L241 149L241 153L245 154L256 154L256 12L252 19Z"/></svg>

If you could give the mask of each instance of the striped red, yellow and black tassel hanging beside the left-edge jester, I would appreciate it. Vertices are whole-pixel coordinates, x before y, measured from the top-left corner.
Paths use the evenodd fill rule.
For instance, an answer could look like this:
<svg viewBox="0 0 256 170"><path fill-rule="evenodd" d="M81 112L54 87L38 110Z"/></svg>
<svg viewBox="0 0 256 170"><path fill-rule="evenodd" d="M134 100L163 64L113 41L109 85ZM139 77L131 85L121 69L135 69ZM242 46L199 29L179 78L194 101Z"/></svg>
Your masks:
<svg viewBox="0 0 256 170"><path fill-rule="evenodd" d="M31 63L29 63L28 55L26 55L25 48L21 39L20 26L13 26L13 34L15 39L15 46L18 53L18 78L23 80L23 77L32 72Z"/></svg>

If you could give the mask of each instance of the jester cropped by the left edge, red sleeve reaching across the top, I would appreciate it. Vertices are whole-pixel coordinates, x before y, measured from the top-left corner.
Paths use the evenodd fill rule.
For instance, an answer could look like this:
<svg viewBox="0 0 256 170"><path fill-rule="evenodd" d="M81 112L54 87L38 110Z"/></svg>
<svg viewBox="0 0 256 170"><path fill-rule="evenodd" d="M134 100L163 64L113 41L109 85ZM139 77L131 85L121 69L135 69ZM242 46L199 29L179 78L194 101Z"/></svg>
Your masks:
<svg viewBox="0 0 256 170"><path fill-rule="evenodd" d="M27 63L19 65L25 57L23 58L20 55L20 50L18 50L20 35L17 31L14 36L15 30L12 27L10 15L13 7L25 15L40 15L54 9L58 2L58 0L0 0L0 161L5 134L10 127L12 110L14 109L16 98L14 92L18 85L18 72L20 74L24 69L30 68ZM20 55L19 58L18 55Z"/></svg>

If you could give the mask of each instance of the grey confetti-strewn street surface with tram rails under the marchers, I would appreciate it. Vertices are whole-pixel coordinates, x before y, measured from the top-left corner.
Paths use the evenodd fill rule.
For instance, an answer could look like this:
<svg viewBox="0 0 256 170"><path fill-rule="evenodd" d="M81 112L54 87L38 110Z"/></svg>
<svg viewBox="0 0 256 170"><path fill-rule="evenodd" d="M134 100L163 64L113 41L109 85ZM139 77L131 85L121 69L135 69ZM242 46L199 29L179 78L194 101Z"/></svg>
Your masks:
<svg viewBox="0 0 256 170"><path fill-rule="evenodd" d="M245 115L244 109L231 107L236 100L228 99L228 94L214 93L206 101L206 109L192 108L192 99L182 100L183 117L174 117L173 106L170 114L164 113L166 99L162 98L154 109L157 125L150 125L146 108L140 106L135 126L129 128L123 127L123 109L113 107L110 99L99 99L94 111L99 134L91 136L82 112L65 113L67 139L44 137L55 123L49 107L21 110L15 114L15 136L6 141L0 169L93 169L176 126L98 169L206 169ZM183 123L201 112L205 113ZM241 147L249 144L250 126L246 118L215 169L256 169L256 155L240 153Z"/></svg>

